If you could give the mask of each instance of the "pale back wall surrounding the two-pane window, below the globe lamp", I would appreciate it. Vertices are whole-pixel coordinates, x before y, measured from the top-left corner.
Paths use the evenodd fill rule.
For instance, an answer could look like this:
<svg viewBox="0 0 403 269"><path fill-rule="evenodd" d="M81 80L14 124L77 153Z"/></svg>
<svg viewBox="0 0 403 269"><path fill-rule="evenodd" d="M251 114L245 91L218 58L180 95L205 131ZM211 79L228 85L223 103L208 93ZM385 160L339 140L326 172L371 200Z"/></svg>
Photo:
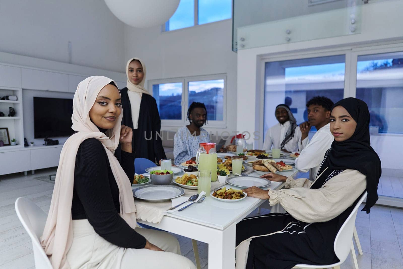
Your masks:
<svg viewBox="0 0 403 269"><path fill-rule="evenodd" d="M161 32L161 27L125 25L125 59L141 58L147 81L226 73L227 131L235 131L237 54L232 51L232 20ZM147 87L147 85L145 85ZM162 127L172 129L172 127ZM222 129L209 129L216 132Z"/></svg>

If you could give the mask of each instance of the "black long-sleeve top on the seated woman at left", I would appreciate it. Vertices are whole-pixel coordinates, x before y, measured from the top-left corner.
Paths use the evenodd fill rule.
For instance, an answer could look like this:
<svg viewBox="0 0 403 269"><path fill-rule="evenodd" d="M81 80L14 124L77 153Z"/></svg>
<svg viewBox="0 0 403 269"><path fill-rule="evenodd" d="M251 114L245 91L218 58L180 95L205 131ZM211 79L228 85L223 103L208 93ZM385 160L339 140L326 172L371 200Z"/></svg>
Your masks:
<svg viewBox="0 0 403 269"><path fill-rule="evenodd" d="M133 183L133 153L122 150L118 161L130 183ZM119 189L104 146L95 138L84 140L76 156L72 217L88 219L97 234L116 246L144 248L145 238L132 229L119 213Z"/></svg>

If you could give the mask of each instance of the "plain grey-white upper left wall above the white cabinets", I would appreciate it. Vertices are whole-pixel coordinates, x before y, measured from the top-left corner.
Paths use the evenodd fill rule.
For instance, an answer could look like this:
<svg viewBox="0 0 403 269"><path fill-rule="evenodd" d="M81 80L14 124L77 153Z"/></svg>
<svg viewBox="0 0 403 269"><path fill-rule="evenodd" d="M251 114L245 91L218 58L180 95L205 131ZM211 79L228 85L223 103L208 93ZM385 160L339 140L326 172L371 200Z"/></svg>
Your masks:
<svg viewBox="0 0 403 269"><path fill-rule="evenodd" d="M70 41L71 63L125 71L123 23L103 0L2 0L0 33L1 52L69 63Z"/></svg>

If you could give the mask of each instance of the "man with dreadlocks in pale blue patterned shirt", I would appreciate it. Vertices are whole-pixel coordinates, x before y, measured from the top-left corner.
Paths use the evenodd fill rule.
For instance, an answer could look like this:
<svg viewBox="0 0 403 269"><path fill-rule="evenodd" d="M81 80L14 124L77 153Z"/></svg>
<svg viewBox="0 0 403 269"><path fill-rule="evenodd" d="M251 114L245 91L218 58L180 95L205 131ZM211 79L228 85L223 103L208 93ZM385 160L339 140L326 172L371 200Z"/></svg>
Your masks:
<svg viewBox="0 0 403 269"><path fill-rule="evenodd" d="M210 142L208 132L202 128L207 122L207 109L203 103L192 102L187 110L189 125L178 129L174 136L175 165L196 156L199 143Z"/></svg>

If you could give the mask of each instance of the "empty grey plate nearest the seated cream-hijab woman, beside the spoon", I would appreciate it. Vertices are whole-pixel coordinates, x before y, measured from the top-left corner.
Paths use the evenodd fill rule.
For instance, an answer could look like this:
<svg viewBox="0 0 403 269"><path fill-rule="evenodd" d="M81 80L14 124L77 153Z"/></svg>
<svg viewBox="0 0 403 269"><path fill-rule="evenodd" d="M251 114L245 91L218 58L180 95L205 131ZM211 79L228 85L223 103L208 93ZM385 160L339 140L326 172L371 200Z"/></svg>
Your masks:
<svg viewBox="0 0 403 269"><path fill-rule="evenodd" d="M148 185L133 190L133 196L148 202L163 202L176 198L185 190L171 185Z"/></svg>

